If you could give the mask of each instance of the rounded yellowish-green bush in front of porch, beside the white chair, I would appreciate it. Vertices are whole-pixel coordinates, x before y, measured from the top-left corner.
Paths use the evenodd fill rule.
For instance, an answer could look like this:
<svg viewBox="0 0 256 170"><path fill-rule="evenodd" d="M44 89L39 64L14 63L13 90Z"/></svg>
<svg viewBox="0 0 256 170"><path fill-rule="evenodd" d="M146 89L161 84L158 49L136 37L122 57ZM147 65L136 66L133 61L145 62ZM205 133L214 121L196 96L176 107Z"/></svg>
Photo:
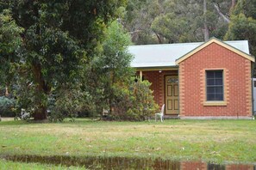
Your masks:
<svg viewBox="0 0 256 170"><path fill-rule="evenodd" d="M109 118L144 121L152 117L159 106L153 100L150 85L148 81L131 80L128 88L116 86L114 88L116 99Z"/></svg>

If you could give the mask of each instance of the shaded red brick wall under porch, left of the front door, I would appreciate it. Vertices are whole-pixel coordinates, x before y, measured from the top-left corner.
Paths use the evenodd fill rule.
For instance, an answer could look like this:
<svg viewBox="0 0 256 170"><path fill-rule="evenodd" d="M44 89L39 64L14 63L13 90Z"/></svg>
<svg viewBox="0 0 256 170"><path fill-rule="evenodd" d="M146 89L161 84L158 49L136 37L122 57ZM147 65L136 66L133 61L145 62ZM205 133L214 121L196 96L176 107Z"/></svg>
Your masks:
<svg viewBox="0 0 256 170"><path fill-rule="evenodd" d="M137 76L140 73L137 72ZM151 82L151 89L153 90L154 100L159 106L162 106L165 102L165 75L177 76L178 70L159 70L142 71L142 76L148 82Z"/></svg>

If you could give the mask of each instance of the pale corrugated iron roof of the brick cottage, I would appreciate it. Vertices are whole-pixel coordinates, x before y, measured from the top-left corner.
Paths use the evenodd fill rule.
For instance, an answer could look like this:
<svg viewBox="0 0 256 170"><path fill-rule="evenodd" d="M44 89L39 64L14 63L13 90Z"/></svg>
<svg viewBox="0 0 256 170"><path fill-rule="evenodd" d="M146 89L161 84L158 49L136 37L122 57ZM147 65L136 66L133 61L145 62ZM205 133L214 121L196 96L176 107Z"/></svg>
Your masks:
<svg viewBox="0 0 256 170"><path fill-rule="evenodd" d="M229 46L245 52L248 55L249 46L247 40L224 41ZM188 52L194 50L204 42L177 43L162 45L129 46L128 52L134 55L131 66L134 68L173 67L175 61Z"/></svg>

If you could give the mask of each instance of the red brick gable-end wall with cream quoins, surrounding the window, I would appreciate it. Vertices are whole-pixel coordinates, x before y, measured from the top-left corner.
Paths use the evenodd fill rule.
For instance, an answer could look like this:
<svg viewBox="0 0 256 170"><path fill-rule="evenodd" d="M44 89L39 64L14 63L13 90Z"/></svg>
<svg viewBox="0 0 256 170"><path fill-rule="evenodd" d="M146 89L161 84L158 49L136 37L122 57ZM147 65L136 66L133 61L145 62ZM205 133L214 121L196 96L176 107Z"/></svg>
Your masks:
<svg viewBox="0 0 256 170"><path fill-rule="evenodd" d="M224 69L227 106L203 106L205 70ZM251 61L215 43L179 64L181 117L252 115Z"/></svg>

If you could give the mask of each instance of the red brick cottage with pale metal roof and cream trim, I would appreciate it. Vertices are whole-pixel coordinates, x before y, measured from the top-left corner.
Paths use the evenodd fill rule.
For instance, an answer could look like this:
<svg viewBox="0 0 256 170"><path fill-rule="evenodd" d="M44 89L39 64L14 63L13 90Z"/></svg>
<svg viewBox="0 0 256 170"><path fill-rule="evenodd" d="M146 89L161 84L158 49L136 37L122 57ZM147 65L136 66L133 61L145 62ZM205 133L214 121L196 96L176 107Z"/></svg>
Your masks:
<svg viewBox="0 0 256 170"><path fill-rule="evenodd" d="M252 118L254 58L247 40L129 46L165 117Z"/></svg>

